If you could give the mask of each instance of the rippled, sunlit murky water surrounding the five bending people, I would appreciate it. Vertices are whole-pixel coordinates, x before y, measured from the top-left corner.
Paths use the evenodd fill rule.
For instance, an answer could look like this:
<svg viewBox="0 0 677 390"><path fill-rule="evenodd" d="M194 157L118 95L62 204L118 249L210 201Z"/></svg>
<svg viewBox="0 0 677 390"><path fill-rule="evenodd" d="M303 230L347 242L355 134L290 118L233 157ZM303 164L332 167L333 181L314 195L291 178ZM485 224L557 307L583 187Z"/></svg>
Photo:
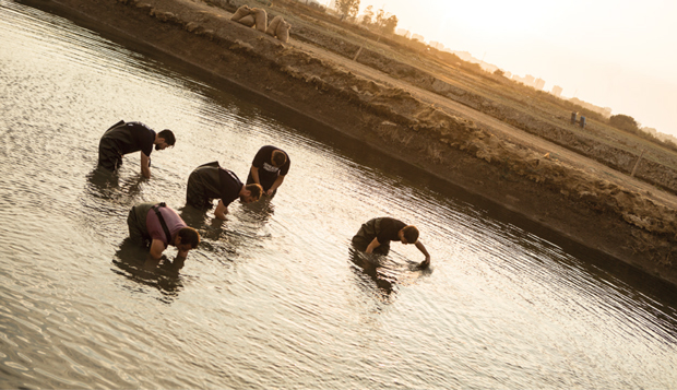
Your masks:
<svg viewBox="0 0 677 390"><path fill-rule="evenodd" d="M0 388L676 386L669 297L200 80L0 0ZM119 119L177 133L151 180L138 154L117 181L92 175ZM180 209L194 167L245 178L264 144L293 158L272 202L185 215L203 245L179 274L135 267L132 204ZM430 271L399 244L376 270L354 262L351 237L380 215L421 229Z"/></svg>

